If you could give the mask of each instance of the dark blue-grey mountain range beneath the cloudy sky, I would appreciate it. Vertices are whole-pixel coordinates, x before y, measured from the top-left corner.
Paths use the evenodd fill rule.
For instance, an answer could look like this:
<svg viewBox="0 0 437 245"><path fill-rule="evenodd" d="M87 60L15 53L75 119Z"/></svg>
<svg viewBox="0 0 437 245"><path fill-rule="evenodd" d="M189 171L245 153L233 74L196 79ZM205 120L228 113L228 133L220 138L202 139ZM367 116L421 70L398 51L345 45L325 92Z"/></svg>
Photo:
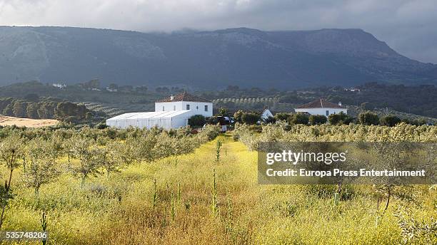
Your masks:
<svg viewBox="0 0 437 245"><path fill-rule="evenodd" d="M140 33L0 27L0 85L91 78L105 84L189 88L435 84L437 66L401 56L361 29Z"/></svg>

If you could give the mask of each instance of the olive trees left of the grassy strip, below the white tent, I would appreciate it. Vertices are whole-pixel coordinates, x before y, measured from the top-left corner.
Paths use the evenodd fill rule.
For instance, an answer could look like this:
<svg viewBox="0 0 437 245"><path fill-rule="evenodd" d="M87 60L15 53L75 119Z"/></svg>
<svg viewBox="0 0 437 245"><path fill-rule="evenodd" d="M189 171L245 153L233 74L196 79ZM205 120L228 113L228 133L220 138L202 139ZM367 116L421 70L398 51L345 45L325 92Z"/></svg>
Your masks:
<svg viewBox="0 0 437 245"><path fill-rule="evenodd" d="M189 127L169 131L130 128L115 132L114 129L84 127L81 130L49 131L36 134L37 137L34 137L34 131L41 131L26 131L11 130L0 137L0 164L7 169L5 184L0 185L0 228L6 207L14 198L11 183L13 173L19 168L25 186L34 189L36 200L39 200L41 187L55 181L64 172L79 177L83 187L91 176L106 173L109 177L134 162L150 162L192 152L201 143L214 139L219 128L208 125L201 132L191 134ZM64 162L62 157L66 157Z"/></svg>

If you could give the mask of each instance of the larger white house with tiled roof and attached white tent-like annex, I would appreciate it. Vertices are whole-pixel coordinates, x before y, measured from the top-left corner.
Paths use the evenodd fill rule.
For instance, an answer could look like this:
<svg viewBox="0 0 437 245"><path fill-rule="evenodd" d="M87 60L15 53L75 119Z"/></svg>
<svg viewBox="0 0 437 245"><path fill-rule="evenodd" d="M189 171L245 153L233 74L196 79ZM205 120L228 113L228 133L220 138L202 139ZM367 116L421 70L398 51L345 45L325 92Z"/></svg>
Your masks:
<svg viewBox="0 0 437 245"><path fill-rule="evenodd" d="M210 100L184 92L156 101L154 112L117 115L106 120L106 125L118 128L132 126L148 129L157 126L169 130L188 125L189 118L193 115L211 117L212 111L213 103Z"/></svg>

